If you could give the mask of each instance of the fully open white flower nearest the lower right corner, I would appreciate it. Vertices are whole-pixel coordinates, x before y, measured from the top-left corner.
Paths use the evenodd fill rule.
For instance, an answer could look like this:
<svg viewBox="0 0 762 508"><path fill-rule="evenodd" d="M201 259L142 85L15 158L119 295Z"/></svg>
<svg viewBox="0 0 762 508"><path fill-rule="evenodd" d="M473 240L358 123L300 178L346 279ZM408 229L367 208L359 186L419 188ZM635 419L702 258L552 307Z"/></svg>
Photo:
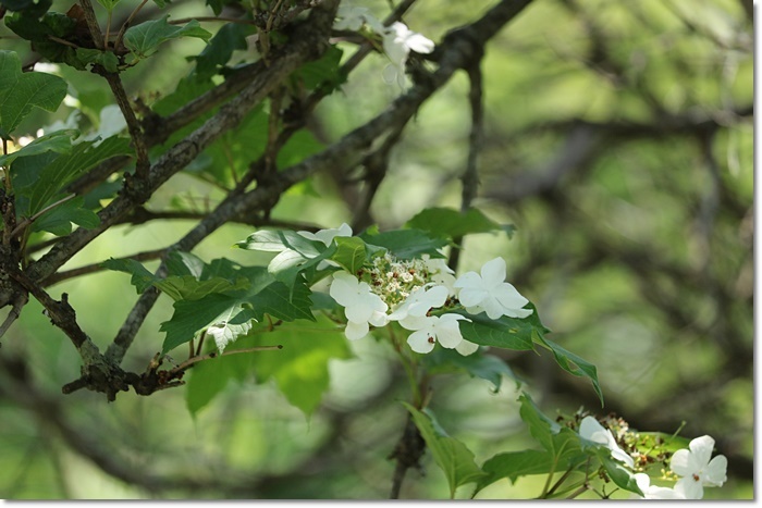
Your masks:
<svg viewBox="0 0 762 508"><path fill-rule="evenodd" d="M679 449L669 460L669 468L679 476L675 491L687 499L701 499L704 486L718 487L727 481L727 458L718 455L712 460L714 439L701 436L691 441L690 450Z"/></svg>

